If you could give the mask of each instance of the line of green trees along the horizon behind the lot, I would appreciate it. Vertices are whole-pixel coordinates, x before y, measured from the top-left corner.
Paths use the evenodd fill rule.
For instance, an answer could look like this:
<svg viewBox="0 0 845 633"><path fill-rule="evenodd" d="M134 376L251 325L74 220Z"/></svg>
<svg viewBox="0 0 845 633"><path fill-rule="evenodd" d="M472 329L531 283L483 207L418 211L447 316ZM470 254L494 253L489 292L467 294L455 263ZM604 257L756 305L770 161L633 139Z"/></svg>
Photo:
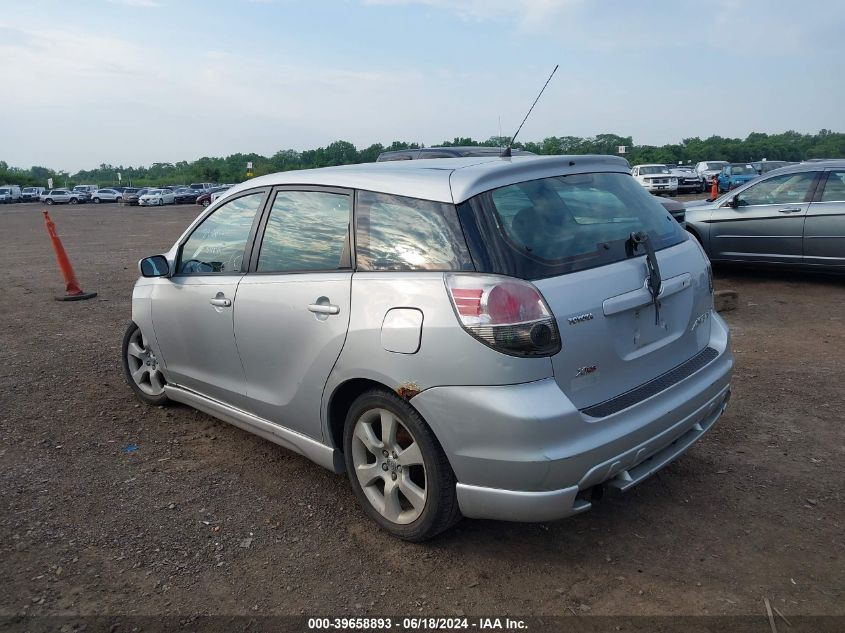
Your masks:
<svg viewBox="0 0 845 633"><path fill-rule="evenodd" d="M440 143L441 146L488 146L502 147L507 137L493 136L486 141L456 137ZM845 133L821 130L818 134L800 134L794 131L782 134L754 132L744 139L711 136L706 139L687 138L677 144L663 146L635 145L632 137L616 134L598 134L594 137L550 136L542 141L517 142L515 148L535 154L617 154L624 146L625 158L632 165L643 163L695 164L702 160L726 160L741 162L760 160L801 161L808 158L845 157ZM101 187L118 184L167 185L191 182L242 182L248 178L247 163L253 165L252 174L261 176L277 171L309 169L367 163L376 160L384 151L416 149L417 143L394 141L388 146L375 143L358 149L349 141L335 141L326 147L305 151L279 150L272 156L260 154L232 154L225 158L203 157L195 161L177 163L153 163L149 167L101 164L95 169L85 169L75 174L55 171L41 166L29 169L10 167L0 160L0 183L25 186L47 186L47 179L53 178L53 186L64 187L75 184L98 184Z"/></svg>

